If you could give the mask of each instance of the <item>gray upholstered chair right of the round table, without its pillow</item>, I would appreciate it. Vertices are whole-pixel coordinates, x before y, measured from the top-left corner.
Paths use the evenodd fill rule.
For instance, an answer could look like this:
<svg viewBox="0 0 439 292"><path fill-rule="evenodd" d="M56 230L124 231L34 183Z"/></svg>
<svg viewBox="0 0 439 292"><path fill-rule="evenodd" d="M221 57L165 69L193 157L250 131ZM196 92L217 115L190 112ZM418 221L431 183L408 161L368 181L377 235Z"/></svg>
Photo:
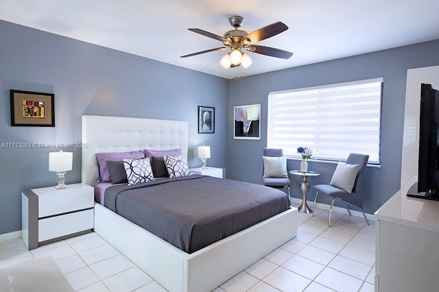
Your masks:
<svg viewBox="0 0 439 292"><path fill-rule="evenodd" d="M351 215L351 211L348 208L348 204L359 208L363 213L364 219L366 219L366 223L370 225L363 211L364 173L366 172L368 159L369 159L368 155L353 154L353 153L349 154L348 159L346 159L346 165L359 165L357 176L355 177L355 183L353 185L351 193L348 193L348 191L344 191L344 189L342 188L337 188L336 186L332 186L331 184L316 184L315 186L311 187L311 190L316 191L316 197L314 198L313 209L316 206L316 199L318 195L327 195L329 197L333 197L331 208L329 208L329 221L328 221L329 227L331 227L331 212L335 199L341 199L344 202L344 204L346 205L346 210L348 210L349 215Z"/></svg>

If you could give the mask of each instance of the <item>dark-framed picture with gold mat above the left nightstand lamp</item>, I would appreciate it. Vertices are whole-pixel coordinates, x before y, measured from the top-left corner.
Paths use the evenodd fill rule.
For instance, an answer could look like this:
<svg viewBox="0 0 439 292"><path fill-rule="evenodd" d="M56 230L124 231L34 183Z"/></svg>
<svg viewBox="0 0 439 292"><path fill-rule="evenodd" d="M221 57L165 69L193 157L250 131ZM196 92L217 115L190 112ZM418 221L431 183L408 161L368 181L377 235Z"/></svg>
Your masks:
<svg viewBox="0 0 439 292"><path fill-rule="evenodd" d="M10 90L11 125L55 127L55 95Z"/></svg>

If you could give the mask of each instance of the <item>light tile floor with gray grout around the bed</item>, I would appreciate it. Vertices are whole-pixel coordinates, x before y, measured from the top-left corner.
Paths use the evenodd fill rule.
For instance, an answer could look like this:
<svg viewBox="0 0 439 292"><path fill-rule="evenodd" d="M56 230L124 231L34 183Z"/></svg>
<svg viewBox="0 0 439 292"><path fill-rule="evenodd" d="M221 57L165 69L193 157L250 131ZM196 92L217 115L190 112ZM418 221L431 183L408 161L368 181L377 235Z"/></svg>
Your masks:
<svg viewBox="0 0 439 292"><path fill-rule="evenodd" d="M375 223L328 211L299 213L298 235L214 292L374 291ZM28 251L0 242L0 268L49 255L76 291L166 291L94 232Z"/></svg>

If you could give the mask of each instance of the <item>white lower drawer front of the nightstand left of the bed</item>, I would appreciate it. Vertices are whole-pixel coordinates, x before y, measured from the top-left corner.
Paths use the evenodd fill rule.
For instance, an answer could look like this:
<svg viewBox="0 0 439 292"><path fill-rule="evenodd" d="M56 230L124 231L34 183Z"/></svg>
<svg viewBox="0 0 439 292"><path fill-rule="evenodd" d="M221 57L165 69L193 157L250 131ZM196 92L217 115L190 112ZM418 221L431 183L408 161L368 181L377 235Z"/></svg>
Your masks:
<svg viewBox="0 0 439 292"><path fill-rule="evenodd" d="M93 228L93 209L38 220L38 241Z"/></svg>

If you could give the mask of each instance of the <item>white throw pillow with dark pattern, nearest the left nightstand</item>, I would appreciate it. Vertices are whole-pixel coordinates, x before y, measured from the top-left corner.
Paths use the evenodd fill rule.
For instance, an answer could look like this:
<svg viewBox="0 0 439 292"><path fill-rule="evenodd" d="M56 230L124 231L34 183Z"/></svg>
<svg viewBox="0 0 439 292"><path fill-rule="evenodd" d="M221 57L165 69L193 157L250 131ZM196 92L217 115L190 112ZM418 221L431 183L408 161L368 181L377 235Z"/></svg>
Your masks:
<svg viewBox="0 0 439 292"><path fill-rule="evenodd" d="M128 178L128 186L154 181L150 158L124 159L123 167L125 168L126 177Z"/></svg>

